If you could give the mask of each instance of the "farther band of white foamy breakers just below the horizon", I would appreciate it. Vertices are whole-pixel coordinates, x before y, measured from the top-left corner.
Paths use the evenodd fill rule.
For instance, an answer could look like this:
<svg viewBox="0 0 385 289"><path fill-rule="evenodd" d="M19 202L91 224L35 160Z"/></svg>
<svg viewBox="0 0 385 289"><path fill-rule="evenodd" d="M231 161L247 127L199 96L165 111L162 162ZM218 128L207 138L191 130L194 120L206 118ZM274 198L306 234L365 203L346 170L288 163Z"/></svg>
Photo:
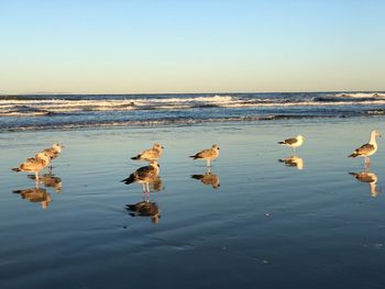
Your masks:
<svg viewBox="0 0 385 289"><path fill-rule="evenodd" d="M334 93L278 96L196 96L101 99L0 99L0 116L43 116L85 112L128 112L133 110L188 110L210 108L283 108L385 104L384 93Z"/></svg>

